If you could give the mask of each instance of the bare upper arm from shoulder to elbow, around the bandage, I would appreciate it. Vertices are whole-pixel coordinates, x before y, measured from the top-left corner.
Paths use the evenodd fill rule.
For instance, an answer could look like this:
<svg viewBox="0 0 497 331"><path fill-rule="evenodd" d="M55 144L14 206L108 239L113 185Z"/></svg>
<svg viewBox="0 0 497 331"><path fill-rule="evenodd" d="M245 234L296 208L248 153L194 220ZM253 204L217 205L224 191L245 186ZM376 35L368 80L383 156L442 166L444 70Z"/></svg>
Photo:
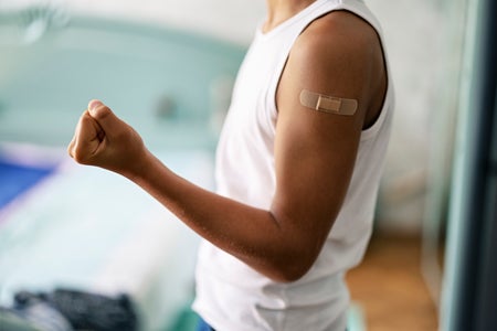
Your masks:
<svg viewBox="0 0 497 331"><path fill-rule="evenodd" d="M305 268L319 254L342 205L361 130L378 108L373 100L382 60L381 52L374 54L373 36L371 26L347 12L317 20L295 43L277 88L272 213L288 231ZM380 58L372 61L374 56ZM357 111L342 116L313 110L300 104L302 89L356 99Z"/></svg>

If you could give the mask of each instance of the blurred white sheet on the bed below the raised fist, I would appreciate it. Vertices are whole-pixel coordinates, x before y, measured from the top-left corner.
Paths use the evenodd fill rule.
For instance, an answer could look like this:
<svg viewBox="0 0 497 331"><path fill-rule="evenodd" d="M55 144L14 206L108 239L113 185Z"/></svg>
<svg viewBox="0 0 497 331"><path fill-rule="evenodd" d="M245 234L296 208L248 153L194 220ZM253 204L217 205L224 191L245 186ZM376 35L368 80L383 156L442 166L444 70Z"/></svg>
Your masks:
<svg viewBox="0 0 497 331"><path fill-rule="evenodd" d="M212 154L165 151L159 158L212 189ZM193 295L197 235L128 180L75 164L59 171L3 211L0 302L20 289L54 287L127 292L144 330L172 322Z"/></svg>

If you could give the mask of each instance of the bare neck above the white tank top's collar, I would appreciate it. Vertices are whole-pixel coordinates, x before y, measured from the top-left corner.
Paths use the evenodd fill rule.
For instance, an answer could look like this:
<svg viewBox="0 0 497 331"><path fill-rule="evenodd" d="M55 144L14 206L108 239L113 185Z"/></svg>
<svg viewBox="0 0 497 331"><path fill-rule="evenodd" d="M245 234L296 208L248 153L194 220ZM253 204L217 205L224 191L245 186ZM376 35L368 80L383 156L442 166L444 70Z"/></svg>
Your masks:
<svg viewBox="0 0 497 331"><path fill-rule="evenodd" d="M266 0L267 19L264 31L271 31L316 0Z"/></svg>

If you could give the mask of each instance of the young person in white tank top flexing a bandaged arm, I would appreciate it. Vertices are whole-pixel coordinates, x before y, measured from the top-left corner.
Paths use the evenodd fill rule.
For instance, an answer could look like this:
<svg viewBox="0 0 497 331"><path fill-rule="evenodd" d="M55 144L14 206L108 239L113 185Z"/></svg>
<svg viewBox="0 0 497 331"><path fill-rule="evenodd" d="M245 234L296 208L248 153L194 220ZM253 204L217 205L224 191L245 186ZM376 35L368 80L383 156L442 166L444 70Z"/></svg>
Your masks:
<svg viewBox="0 0 497 331"><path fill-rule="evenodd" d="M70 154L130 179L204 238L194 309L218 331L346 329L393 90L360 0L267 0L216 156L216 193L172 173L92 100Z"/></svg>

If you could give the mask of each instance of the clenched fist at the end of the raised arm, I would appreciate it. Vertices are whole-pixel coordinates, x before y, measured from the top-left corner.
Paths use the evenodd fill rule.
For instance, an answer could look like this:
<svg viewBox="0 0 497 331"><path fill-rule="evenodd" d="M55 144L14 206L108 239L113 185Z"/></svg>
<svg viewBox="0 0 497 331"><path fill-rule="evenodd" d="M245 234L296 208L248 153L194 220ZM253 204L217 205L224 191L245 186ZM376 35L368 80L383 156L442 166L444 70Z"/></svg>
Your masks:
<svg viewBox="0 0 497 331"><path fill-rule="evenodd" d="M99 100L89 102L67 151L78 163L126 177L138 174L148 152L141 137Z"/></svg>

